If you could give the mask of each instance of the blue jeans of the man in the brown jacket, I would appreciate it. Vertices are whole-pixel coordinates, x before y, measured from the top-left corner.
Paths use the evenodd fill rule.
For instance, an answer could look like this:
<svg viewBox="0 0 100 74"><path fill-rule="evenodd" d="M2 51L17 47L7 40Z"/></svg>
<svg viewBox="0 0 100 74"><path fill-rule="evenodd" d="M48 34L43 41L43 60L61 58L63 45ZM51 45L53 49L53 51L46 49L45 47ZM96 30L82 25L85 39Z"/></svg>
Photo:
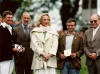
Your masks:
<svg viewBox="0 0 100 74"><path fill-rule="evenodd" d="M79 69L73 69L70 67L69 61L65 61L61 74L79 74Z"/></svg>

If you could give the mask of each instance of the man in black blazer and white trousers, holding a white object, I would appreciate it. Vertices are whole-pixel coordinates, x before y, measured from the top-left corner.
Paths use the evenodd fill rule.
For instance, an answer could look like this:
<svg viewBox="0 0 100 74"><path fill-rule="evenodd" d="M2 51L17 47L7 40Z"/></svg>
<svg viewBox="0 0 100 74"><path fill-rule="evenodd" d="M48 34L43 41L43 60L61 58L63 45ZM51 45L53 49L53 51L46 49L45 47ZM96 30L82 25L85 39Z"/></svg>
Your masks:
<svg viewBox="0 0 100 74"><path fill-rule="evenodd" d="M0 74L12 74L14 60L13 54L18 49L14 48L14 31L10 26L13 14L11 11L3 12L3 21L0 24Z"/></svg>

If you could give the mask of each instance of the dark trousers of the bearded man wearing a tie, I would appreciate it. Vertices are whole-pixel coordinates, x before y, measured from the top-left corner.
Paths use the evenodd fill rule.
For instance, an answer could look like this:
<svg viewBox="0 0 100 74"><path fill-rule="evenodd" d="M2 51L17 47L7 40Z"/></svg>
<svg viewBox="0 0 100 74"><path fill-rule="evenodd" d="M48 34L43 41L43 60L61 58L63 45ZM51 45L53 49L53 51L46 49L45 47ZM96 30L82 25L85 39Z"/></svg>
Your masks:
<svg viewBox="0 0 100 74"><path fill-rule="evenodd" d="M15 56L15 71L16 74L32 74L31 64L33 51L26 50L24 53L19 53Z"/></svg>

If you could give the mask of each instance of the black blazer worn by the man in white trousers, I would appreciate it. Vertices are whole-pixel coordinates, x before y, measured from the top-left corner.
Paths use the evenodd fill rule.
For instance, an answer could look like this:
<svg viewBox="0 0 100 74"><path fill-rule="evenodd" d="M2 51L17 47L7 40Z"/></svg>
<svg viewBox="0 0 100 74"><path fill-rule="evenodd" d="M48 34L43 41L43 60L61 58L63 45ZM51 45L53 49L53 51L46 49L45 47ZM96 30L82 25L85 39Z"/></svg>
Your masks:
<svg viewBox="0 0 100 74"><path fill-rule="evenodd" d="M10 34L7 27L0 26L0 62L11 60L13 56L14 32Z"/></svg>

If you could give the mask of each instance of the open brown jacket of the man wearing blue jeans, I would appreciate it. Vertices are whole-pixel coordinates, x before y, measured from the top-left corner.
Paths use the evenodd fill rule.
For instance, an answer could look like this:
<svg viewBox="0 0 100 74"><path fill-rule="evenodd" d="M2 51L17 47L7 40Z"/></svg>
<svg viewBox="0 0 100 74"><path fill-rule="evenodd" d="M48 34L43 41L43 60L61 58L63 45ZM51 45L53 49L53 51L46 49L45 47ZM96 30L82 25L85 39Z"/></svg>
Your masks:
<svg viewBox="0 0 100 74"><path fill-rule="evenodd" d="M62 69L63 64L65 62L65 60L69 60L70 62L70 66L72 68L77 68L80 69L81 68L81 63L80 63L80 57L83 53L83 39L78 36L78 34L74 33L74 38L73 38L73 42L72 42L72 53L76 53L76 58L72 59L70 56L67 57L65 60L60 58L60 54L64 54L64 50L65 50L65 45L66 45L66 31L65 32L61 32L59 35L59 45L58 45L58 52L57 52L57 57L58 57L58 69Z"/></svg>

